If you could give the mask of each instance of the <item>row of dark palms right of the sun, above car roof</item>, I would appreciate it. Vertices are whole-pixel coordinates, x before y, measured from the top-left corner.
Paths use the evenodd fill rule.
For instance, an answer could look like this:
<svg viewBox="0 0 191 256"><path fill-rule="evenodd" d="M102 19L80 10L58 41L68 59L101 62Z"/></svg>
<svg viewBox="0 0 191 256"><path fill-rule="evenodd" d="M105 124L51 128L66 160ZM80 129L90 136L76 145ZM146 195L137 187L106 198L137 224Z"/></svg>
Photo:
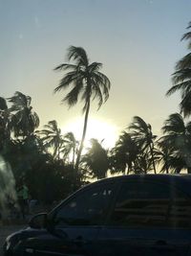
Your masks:
<svg viewBox="0 0 191 256"><path fill-rule="evenodd" d="M111 151L113 173L191 173L191 122L180 113L164 121L160 137L138 116L127 129Z"/></svg>

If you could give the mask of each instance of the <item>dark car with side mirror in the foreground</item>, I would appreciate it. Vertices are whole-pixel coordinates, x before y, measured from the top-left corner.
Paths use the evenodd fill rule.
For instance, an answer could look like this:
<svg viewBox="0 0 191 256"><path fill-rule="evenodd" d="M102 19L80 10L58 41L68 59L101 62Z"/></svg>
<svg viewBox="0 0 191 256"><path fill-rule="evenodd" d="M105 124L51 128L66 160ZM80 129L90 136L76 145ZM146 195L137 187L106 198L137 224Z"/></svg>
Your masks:
<svg viewBox="0 0 191 256"><path fill-rule="evenodd" d="M191 255L191 175L121 175L11 234L4 255Z"/></svg>

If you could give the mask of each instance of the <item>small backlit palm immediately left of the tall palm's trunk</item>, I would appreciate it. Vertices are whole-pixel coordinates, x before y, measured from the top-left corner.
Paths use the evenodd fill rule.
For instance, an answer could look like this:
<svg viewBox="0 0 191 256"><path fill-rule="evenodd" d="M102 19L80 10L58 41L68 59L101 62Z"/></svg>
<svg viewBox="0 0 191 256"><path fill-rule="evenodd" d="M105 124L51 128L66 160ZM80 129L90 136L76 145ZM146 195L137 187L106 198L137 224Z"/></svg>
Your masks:
<svg viewBox="0 0 191 256"><path fill-rule="evenodd" d="M67 132L63 136L63 149L61 149L61 152L64 154L64 158L69 157L70 153L72 153L73 169L74 169L75 154L77 153L77 146L78 146L78 141L75 139L74 133Z"/></svg>

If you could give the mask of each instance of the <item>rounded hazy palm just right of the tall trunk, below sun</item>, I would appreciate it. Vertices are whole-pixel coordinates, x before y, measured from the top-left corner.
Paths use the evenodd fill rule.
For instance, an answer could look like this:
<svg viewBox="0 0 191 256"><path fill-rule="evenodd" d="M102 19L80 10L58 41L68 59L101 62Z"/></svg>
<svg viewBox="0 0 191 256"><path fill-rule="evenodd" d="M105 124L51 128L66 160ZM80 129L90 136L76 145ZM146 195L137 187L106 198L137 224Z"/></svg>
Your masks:
<svg viewBox="0 0 191 256"><path fill-rule="evenodd" d="M96 139L91 139L90 143L91 148L83 155L82 162L85 168L88 169L91 177L96 177L97 179L104 178L109 168L107 151L103 149L101 143Z"/></svg>

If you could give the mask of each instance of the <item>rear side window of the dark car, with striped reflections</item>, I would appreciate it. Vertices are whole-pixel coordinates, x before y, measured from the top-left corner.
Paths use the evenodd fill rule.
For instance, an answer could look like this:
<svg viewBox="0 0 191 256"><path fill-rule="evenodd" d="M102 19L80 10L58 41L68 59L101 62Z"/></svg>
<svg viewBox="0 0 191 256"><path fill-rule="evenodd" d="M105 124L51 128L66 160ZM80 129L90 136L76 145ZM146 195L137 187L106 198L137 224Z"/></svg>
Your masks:
<svg viewBox="0 0 191 256"><path fill-rule="evenodd" d="M129 228L183 227L188 216L190 199L174 187L130 182L121 186L109 223Z"/></svg>

